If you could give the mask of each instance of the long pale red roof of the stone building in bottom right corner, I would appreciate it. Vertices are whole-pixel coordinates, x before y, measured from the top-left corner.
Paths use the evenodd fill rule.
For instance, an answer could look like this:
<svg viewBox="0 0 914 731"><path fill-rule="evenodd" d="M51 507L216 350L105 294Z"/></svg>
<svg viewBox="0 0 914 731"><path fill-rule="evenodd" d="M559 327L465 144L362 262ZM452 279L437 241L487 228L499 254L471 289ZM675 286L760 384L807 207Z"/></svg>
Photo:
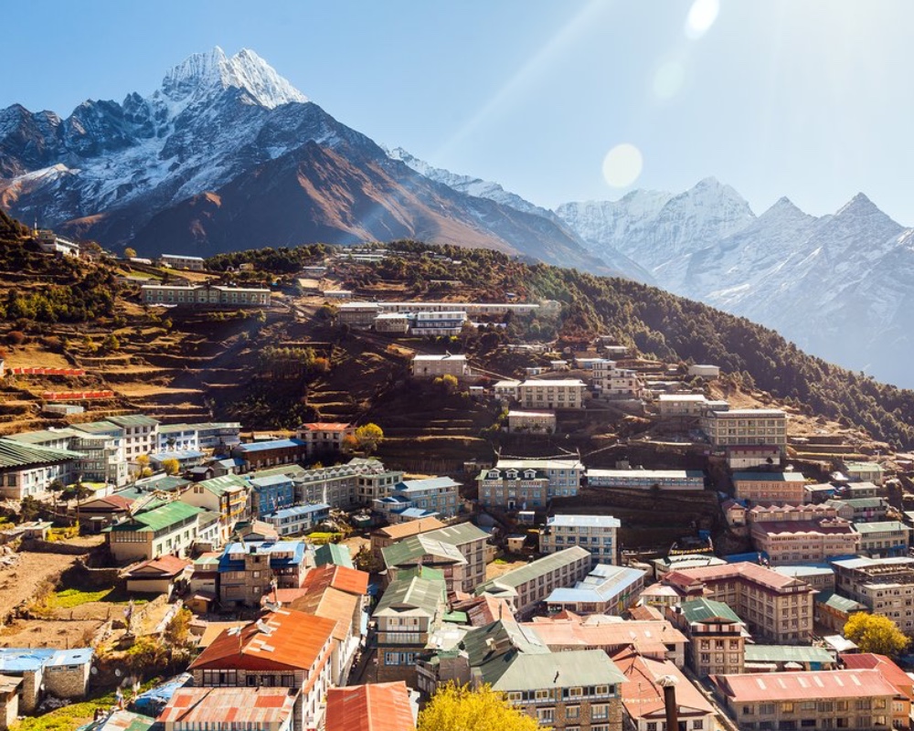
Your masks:
<svg viewBox="0 0 914 731"><path fill-rule="evenodd" d="M733 703L862 698L896 693L895 687L877 670L746 673L715 675L712 680Z"/></svg>

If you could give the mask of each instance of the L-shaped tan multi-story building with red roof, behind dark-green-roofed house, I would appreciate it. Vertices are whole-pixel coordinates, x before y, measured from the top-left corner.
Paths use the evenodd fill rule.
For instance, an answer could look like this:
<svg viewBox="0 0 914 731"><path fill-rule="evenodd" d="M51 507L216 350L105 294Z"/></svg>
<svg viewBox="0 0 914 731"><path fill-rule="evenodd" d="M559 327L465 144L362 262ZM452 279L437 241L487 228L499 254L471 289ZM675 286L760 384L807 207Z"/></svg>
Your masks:
<svg viewBox="0 0 914 731"><path fill-rule="evenodd" d="M685 568L667 574L665 583L691 582L692 596L722 601L746 622L753 636L777 644L808 641L813 634L813 588L796 577L741 562Z"/></svg>

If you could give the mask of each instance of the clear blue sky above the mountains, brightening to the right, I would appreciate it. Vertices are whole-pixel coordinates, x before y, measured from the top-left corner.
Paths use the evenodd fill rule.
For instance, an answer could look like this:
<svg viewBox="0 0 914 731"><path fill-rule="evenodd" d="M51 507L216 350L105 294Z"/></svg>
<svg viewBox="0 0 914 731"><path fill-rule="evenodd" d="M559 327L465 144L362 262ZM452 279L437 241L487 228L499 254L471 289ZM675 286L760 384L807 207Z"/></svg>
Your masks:
<svg viewBox="0 0 914 731"><path fill-rule="evenodd" d="M914 225L914 4L696 2L29 0L4 8L0 107L67 115L247 47L377 142L543 206L714 175L756 213L863 191ZM643 167L619 188L603 162L622 143Z"/></svg>

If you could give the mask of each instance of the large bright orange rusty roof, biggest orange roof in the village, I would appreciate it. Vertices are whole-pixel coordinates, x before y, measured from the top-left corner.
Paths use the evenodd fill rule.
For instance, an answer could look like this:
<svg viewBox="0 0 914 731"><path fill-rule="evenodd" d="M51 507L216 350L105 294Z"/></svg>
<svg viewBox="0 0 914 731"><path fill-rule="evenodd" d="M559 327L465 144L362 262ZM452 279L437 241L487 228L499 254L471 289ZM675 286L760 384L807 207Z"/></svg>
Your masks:
<svg viewBox="0 0 914 731"><path fill-rule="evenodd" d="M259 627L266 627L269 631L261 631ZM308 671L315 662L325 662L325 651L335 628L336 620L291 609L277 609L245 625L240 632L223 631L197 660L190 663L189 669L292 668Z"/></svg>

